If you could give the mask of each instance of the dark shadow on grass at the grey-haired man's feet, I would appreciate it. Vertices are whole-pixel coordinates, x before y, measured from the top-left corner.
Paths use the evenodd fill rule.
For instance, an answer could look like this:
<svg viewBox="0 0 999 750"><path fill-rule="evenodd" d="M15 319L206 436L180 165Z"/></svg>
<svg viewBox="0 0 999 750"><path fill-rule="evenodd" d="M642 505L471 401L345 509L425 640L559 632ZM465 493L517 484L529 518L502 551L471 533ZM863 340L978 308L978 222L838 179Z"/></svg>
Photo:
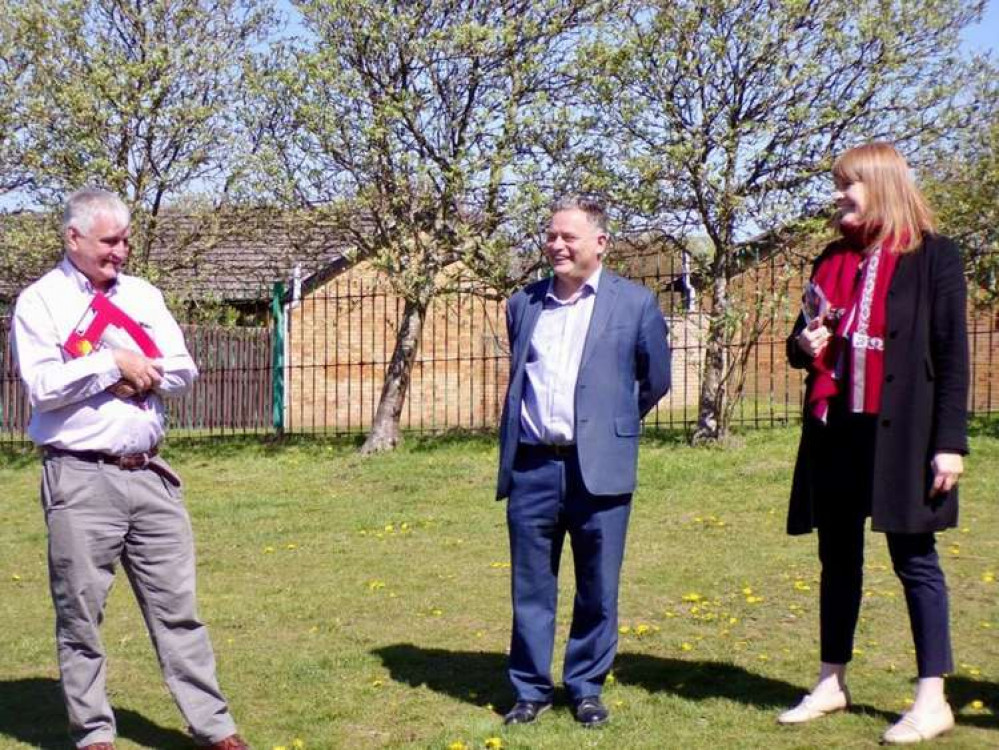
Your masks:
<svg viewBox="0 0 999 750"><path fill-rule="evenodd" d="M118 736L158 750L189 750L191 738L154 724L142 714L115 709ZM45 677L0 680L0 738L9 737L40 750L72 746L59 681Z"/></svg>

